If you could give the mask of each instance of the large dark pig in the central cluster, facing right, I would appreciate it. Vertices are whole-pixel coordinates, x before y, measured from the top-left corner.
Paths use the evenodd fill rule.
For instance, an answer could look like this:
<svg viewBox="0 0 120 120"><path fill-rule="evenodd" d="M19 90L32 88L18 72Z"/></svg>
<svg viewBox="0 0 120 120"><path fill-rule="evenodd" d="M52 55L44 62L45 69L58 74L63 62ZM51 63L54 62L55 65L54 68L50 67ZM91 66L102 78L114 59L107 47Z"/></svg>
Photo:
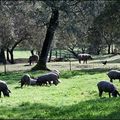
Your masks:
<svg viewBox="0 0 120 120"><path fill-rule="evenodd" d="M37 82L36 82L37 85L42 85L42 84L47 85L47 83L49 83L50 85L51 83L55 85L60 83L60 81L58 80L58 74L54 72L50 72L37 78Z"/></svg>

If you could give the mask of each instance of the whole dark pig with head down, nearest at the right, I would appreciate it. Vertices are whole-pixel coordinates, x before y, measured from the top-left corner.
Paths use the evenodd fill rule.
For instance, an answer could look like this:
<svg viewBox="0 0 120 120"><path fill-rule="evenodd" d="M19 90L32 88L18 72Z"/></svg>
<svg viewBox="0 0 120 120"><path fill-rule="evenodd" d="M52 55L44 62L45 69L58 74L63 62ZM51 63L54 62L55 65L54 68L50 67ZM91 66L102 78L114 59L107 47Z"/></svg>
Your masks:
<svg viewBox="0 0 120 120"><path fill-rule="evenodd" d="M109 93L109 97L111 97L111 93L113 97L117 97L117 95L120 96L119 92L117 91L116 87L107 81L100 81L97 84L98 90L99 90L99 97L102 97L102 93L103 92L108 92Z"/></svg>

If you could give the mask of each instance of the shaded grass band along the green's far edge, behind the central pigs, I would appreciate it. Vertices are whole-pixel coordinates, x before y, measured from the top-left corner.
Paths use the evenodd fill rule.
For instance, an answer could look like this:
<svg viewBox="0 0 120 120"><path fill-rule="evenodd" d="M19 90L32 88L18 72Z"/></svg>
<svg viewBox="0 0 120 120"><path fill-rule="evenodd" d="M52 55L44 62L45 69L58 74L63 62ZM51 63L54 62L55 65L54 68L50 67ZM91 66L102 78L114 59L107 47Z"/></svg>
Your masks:
<svg viewBox="0 0 120 120"><path fill-rule="evenodd" d="M110 69L103 69L103 68L95 68L95 69L84 69L84 70L73 70L73 71L60 71L60 79L65 78L69 79L75 76L82 76L82 75L94 75L100 73L107 73ZM24 74L30 74L30 76L38 77L42 74L47 73L46 71L19 71L19 72L8 72L7 74L0 73L0 79L6 81L8 84L18 83L21 77Z"/></svg>

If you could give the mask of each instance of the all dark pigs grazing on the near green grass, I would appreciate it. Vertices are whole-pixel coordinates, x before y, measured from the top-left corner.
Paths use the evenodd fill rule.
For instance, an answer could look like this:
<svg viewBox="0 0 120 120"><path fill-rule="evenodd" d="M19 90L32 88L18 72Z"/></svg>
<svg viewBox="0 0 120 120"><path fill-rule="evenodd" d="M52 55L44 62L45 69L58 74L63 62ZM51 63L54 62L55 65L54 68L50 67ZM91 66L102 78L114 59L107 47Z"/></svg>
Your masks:
<svg viewBox="0 0 120 120"><path fill-rule="evenodd" d="M99 91L99 97L102 97L103 92L107 92L109 94L109 97L111 97L111 94L113 97L120 96L117 88L115 87L114 84L112 84L113 80L119 79L120 81L120 71L118 70L110 70L107 73L108 77L110 78L110 82L106 80L102 80L98 82L97 87ZM19 83L21 84L21 88L23 86L29 86L29 85L57 85L61 81L59 80L60 72L58 70L53 70L49 73L46 73L44 75L41 75L37 78L32 78L30 77L29 74L25 74L22 76L21 80ZM4 97L8 96L11 91L8 89L8 86L5 81L0 80L0 97L1 93L3 93Z"/></svg>

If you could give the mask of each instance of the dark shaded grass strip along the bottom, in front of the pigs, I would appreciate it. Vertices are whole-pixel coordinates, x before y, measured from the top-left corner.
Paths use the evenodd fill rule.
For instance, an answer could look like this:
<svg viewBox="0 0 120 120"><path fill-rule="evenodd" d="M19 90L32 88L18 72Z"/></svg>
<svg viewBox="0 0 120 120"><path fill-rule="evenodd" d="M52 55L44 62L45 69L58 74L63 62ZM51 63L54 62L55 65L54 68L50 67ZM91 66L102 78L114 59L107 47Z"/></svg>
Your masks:
<svg viewBox="0 0 120 120"><path fill-rule="evenodd" d="M117 119L119 98L93 99L70 106L50 106L23 102L15 107L1 106L0 118L13 119Z"/></svg>

